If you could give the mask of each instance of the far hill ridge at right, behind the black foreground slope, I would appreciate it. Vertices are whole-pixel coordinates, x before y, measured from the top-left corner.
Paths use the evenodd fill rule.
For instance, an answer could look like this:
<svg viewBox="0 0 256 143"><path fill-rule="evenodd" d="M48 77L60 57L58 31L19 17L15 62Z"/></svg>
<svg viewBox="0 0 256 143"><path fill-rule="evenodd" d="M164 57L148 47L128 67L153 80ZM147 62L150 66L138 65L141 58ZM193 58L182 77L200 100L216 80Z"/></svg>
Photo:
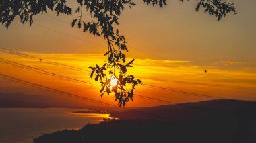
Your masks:
<svg viewBox="0 0 256 143"><path fill-rule="evenodd" d="M134 108L136 111L113 111L112 117L120 119L193 120L212 115L256 115L256 102L238 100L211 100L180 103L157 107ZM150 113L150 114L147 114Z"/></svg>

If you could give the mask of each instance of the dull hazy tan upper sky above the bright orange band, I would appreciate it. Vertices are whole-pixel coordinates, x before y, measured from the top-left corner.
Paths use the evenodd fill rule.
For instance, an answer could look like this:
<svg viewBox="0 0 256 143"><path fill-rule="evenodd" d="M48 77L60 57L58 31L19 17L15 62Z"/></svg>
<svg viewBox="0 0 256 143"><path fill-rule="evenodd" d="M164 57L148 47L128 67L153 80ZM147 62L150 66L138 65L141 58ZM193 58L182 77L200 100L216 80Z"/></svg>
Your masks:
<svg viewBox="0 0 256 143"><path fill-rule="evenodd" d="M125 9L120 17L119 29L127 37L129 45L147 50L170 60L220 61L238 60L255 62L256 1L233 0L237 15L228 15L217 21L215 17L195 12L196 1L181 3L168 1L167 7L152 7L136 1L132 9ZM55 15L51 13L50 15ZM60 16L71 23L75 16ZM44 53L97 53L106 50L106 42L51 17L38 15L34 23L46 26L78 38L94 42L82 42L40 26L22 26L16 19L9 30L0 28L1 46L17 50ZM143 58L158 58L130 48ZM141 55L142 54L142 55Z"/></svg>

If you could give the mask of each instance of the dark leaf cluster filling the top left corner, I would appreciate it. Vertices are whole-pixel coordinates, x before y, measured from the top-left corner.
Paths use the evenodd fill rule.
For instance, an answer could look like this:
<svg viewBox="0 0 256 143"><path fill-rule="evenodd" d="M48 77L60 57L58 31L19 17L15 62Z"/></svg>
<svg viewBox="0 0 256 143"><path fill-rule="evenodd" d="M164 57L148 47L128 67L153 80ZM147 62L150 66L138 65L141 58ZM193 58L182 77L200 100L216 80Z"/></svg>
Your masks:
<svg viewBox="0 0 256 143"><path fill-rule="evenodd" d="M0 1L0 22L6 28L10 26L15 17L20 17L20 22L30 23L33 22L33 16L39 13L47 13L47 9L59 13L71 15L72 10L66 5L65 0L20 0Z"/></svg>

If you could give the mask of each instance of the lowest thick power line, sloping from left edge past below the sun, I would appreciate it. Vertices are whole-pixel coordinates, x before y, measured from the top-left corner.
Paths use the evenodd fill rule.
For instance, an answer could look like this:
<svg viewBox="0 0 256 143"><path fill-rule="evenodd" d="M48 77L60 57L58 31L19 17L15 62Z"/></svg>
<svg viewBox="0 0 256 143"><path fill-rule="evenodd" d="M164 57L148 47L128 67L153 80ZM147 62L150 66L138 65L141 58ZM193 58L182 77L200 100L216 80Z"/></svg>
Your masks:
<svg viewBox="0 0 256 143"><path fill-rule="evenodd" d="M44 89L46 91L51 91L53 93L58 93L60 95L66 95L66 96L69 96L69 97L75 97L75 99L82 99L84 101L89 101L89 102L92 102L92 103L96 103L96 104L101 104L101 105L106 105L108 107L113 107L113 108L116 108L116 109L125 109L129 112L133 112L133 113L143 113L143 115L146 115L146 116L150 116L150 117L160 117L162 119L168 119L170 120L170 117L165 117L165 116L162 116L162 115L156 115L154 113L148 113L148 112L144 112L144 111L139 111L137 109L129 109L127 107L122 107L122 108L119 108L117 107L116 105L113 105L113 104L110 104L110 103L105 103L105 102L102 102L102 101L98 101L98 100L95 100L95 99L90 99L88 97L83 97L81 95L76 95L76 94L72 94L72 93L68 93L66 91L61 91L59 89L53 89L51 87L46 87L44 85L39 85L37 83L32 83L30 81L25 81L25 80L22 80L22 79L18 79L18 78L15 78L15 77L10 77L8 75L3 75L0 73L0 77L3 78L3 79L11 79L10 81L15 81L15 82L18 82L18 83L22 83L24 85L32 85L32 87L39 87L39 89Z"/></svg>

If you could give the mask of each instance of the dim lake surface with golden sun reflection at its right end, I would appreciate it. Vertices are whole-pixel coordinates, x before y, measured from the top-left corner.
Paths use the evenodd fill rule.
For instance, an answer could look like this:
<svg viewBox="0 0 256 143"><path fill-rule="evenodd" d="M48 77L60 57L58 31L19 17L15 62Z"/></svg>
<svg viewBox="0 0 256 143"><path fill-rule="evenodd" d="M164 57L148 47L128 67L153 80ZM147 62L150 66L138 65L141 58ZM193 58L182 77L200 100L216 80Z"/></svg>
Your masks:
<svg viewBox="0 0 256 143"><path fill-rule="evenodd" d="M88 123L98 123L108 114L72 113L86 111L61 108L0 108L0 143L33 142L41 133L78 130Z"/></svg>

